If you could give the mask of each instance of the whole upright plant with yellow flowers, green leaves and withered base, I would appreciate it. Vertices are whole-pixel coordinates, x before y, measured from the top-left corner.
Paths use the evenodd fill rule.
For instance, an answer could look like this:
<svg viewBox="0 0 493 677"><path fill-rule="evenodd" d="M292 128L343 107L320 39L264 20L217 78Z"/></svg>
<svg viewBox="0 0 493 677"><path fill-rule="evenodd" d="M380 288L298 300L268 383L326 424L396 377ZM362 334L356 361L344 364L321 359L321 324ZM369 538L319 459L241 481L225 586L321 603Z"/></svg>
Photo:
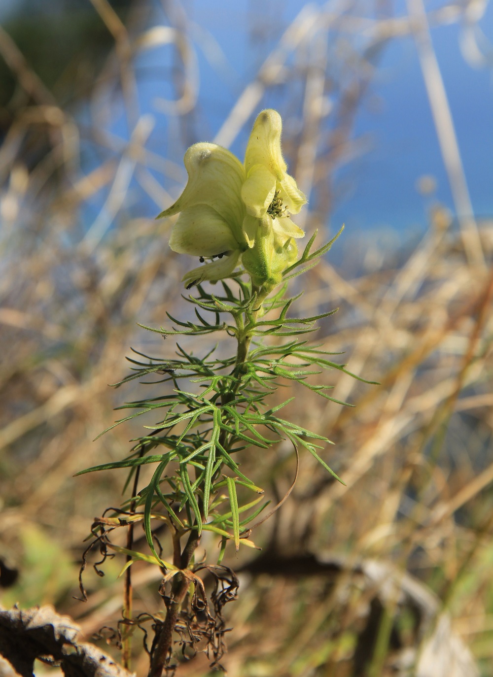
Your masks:
<svg viewBox="0 0 493 677"><path fill-rule="evenodd" d="M129 665L135 626L143 628L151 621L151 677L160 677L169 666L176 641L192 651L202 643L211 665L220 667L221 609L238 588L234 572L221 564L223 554L228 544L236 551L256 547L253 526L268 504L257 478L242 472L242 459L252 448L272 454L274 462L276 445L289 440L296 456L305 450L339 479L322 458L330 441L283 417L282 409L293 398L276 406L269 403L280 385L291 383L331 400L330 385L312 385L308 377L330 368L349 374L306 338L318 320L334 311L309 318L290 314L298 297L286 297L288 280L316 265L335 238L312 250L314 234L299 256L297 240L304 233L291 215L299 213L306 198L286 173L280 136L280 115L264 110L253 126L243 163L215 144L195 144L186 152L188 183L160 217L179 213L170 246L177 253L200 257L200 265L183 279L187 290L193 288L186 301L194 306L196 319L181 322L168 315L170 326L146 329L163 337L204 336L204 348L194 355L177 343L175 355L166 359L135 353L131 374L115 385L154 375L154 383L163 384L163 395L121 407L130 414L114 425L143 414L152 414L154 423L146 424L127 458L83 471L129 471L126 487L133 487L131 497L122 510L95 521L88 550L98 544L104 556L119 552L127 557L119 628L124 664ZM206 282L219 285L210 290ZM207 343L209 334L225 332L236 345L230 357ZM273 336L276 341L270 341ZM142 487L139 471L144 464L152 464L154 473ZM133 526L138 522L144 526L149 552L133 548ZM127 548L112 544L110 538L121 526L128 529ZM219 548L215 561L198 563L194 553L204 531L217 536ZM169 538L166 550L160 544L163 533ZM139 560L163 573L163 619L132 615L130 571ZM216 580L209 596L198 575L204 569Z"/></svg>

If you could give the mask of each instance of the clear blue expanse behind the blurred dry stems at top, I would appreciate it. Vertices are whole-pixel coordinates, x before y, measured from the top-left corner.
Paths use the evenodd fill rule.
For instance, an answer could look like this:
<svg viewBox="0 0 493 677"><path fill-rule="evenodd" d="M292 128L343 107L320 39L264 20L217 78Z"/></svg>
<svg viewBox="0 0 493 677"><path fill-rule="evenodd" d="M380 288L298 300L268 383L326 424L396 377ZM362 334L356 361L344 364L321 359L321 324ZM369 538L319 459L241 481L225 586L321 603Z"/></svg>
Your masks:
<svg viewBox="0 0 493 677"><path fill-rule="evenodd" d="M49 3L50 0L46 0ZM200 69L199 108L195 125L200 139L210 141L234 105L243 87L255 76L276 41L297 16L301 1L295 0L183 0L187 20L196 30L209 32L221 47L227 65L218 76L195 41ZM322 3L315 3L322 5ZM444 3L433 1L433 7ZM15 0L0 2L0 20ZM431 7L430 3L427 8ZM404 15L405 3L398 0L395 14ZM156 24L165 16L156 1ZM260 33L252 40L254 22ZM488 7L479 23L493 41L493 9ZM473 68L459 46L457 24L433 28L437 60L448 93L458 144L477 216L493 216L493 91L491 68ZM155 66L162 73L173 62L170 47L148 52L142 66ZM157 71L156 71L157 72ZM141 88L142 108L155 113L156 95L172 95L159 80L158 91L150 79ZM272 105L269 100L265 102ZM155 113L156 114L156 113ZM167 125L177 123L156 114L152 148L181 163L183 148L179 135L173 141ZM125 135L123 121L115 119L114 131ZM337 174L333 227L345 222L353 232L391 227L405 236L426 227L425 201L416 191L416 179L433 175L436 197L453 210L448 178L442 162L427 93L414 42L409 37L391 41L379 62L364 105L356 118L356 135L370 140L368 152L351 161ZM247 130L236 139L232 150L242 156ZM165 139L167 139L165 141ZM167 143L167 147L163 144ZM184 175L184 179L185 179ZM177 187L179 188L179 187ZM97 205L95 205L97 209ZM150 212L155 205L149 206Z"/></svg>

